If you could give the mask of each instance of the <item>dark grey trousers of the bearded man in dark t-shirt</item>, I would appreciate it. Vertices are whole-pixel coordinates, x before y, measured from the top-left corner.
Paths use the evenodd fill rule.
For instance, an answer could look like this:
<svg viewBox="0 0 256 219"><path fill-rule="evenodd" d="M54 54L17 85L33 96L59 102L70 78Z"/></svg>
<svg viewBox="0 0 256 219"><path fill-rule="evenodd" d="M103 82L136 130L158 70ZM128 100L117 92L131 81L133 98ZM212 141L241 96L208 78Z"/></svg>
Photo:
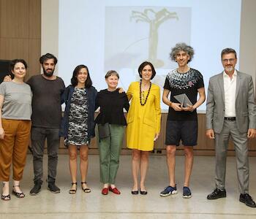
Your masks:
<svg viewBox="0 0 256 219"><path fill-rule="evenodd" d="M33 153L34 181L42 180L42 157L45 139L48 151L48 183L55 182L58 164L59 128L31 128L31 145Z"/></svg>

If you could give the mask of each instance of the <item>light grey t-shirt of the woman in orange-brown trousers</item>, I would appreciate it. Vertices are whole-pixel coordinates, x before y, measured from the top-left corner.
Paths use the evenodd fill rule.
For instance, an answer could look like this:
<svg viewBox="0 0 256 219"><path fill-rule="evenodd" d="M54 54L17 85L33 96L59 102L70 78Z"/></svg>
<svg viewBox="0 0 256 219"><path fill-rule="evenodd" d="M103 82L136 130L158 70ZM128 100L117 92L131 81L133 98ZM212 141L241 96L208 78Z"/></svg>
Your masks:
<svg viewBox="0 0 256 219"><path fill-rule="evenodd" d="M26 83L2 82L0 95L4 96L1 118L12 120L31 120L32 92Z"/></svg>

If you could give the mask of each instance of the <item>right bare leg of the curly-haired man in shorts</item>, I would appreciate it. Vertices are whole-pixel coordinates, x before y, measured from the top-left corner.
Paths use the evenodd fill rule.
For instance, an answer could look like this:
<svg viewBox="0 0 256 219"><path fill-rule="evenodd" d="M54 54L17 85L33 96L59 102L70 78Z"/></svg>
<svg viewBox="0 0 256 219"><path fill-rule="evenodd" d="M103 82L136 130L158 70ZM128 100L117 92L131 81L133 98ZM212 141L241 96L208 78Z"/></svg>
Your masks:
<svg viewBox="0 0 256 219"><path fill-rule="evenodd" d="M192 172L193 166L193 147L192 146L184 146L184 153L185 153L185 180L184 186L189 187L189 180Z"/></svg>

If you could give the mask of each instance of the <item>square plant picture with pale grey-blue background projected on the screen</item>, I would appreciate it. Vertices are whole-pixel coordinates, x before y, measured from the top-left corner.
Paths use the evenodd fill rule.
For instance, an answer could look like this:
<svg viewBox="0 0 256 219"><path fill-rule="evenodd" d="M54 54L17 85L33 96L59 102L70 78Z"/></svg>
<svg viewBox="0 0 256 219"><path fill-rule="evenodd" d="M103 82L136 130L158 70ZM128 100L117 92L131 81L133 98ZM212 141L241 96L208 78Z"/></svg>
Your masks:
<svg viewBox="0 0 256 219"><path fill-rule="evenodd" d="M116 69L124 74L121 83L128 88L129 82L138 80L140 63L150 61L161 69L154 82L162 87L171 65L170 48L176 42L190 42L190 21L189 7L106 7L105 72Z"/></svg>

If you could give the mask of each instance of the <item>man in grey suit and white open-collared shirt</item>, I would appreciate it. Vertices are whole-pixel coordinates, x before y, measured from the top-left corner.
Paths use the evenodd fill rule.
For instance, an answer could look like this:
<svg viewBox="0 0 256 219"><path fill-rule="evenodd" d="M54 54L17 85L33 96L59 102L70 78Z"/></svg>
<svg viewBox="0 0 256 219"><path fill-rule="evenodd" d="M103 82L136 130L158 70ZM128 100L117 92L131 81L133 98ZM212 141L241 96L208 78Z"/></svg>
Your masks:
<svg viewBox="0 0 256 219"><path fill-rule="evenodd" d="M249 162L247 139L256 137L256 105L252 77L235 69L236 51L222 50L224 71L211 77L206 103L206 136L215 140L216 189L207 199L226 197L225 174L228 140L236 150L239 201L256 207L249 196Z"/></svg>

